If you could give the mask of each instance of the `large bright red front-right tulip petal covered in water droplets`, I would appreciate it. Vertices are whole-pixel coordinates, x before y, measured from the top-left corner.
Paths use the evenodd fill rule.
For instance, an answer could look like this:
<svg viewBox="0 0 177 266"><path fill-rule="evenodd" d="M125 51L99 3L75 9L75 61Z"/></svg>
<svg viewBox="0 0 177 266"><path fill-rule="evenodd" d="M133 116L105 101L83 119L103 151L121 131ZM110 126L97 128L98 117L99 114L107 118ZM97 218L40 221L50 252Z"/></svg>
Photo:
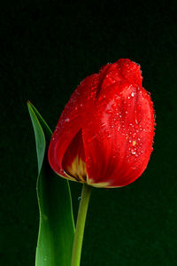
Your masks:
<svg viewBox="0 0 177 266"><path fill-rule="evenodd" d="M141 79L137 83L129 83L125 77L112 85L103 83L94 113L90 113L92 126L83 129L89 184L102 181L106 187L123 186L133 182L147 166L153 108L149 95L139 87Z"/></svg>

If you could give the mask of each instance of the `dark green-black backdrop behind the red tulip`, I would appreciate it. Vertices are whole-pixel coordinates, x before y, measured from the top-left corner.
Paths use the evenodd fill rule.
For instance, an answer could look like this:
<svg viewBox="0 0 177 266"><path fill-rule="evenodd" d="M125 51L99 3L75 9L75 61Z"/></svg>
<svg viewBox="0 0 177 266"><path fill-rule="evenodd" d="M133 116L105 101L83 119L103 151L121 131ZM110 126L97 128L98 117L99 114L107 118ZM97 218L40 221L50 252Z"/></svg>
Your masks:
<svg viewBox="0 0 177 266"><path fill-rule="evenodd" d="M27 99L53 130L73 90L120 58L142 66L157 130L141 178L94 189L81 265L177 262L175 1L14 1L1 7L0 265L35 265L35 137ZM74 216L81 184L71 184Z"/></svg>

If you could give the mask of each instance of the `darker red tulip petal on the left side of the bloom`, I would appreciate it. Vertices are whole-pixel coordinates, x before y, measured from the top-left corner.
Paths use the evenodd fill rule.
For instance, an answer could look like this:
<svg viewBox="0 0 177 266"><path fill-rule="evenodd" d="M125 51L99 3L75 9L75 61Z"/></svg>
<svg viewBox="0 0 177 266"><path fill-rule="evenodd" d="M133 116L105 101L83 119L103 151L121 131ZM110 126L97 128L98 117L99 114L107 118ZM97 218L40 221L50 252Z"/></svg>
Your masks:
<svg viewBox="0 0 177 266"><path fill-rule="evenodd" d="M58 125L53 133L49 147L49 161L50 166L59 175L72 181L76 181L78 176L70 174L66 167L66 159L71 162L73 158L76 158L78 153L83 155L83 149L77 150L75 145L81 144L81 128L84 127L87 122L87 110L92 103L92 99L96 96L98 83L98 74L93 74L87 77L81 82L81 85L74 90L69 102L65 106L64 112L58 121ZM89 112L90 113L90 112ZM74 152L71 152L71 151ZM70 151L70 152L69 152ZM69 159L69 153L71 158ZM81 160L78 160L75 164L76 168L79 167ZM84 165L81 164L84 168ZM84 172L86 172L84 170ZM79 175L81 178L81 175ZM86 179L86 175L81 178L81 182Z"/></svg>

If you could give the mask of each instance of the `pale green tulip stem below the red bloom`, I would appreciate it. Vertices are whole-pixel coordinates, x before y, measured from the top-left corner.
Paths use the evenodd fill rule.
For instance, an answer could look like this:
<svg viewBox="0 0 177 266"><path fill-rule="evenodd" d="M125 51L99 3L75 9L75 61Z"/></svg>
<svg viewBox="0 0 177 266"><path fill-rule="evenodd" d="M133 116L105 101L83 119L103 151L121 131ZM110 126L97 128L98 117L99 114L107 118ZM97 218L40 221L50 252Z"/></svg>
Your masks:
<svg viewBox="0 0 177 266"><path fill-rule="evenodd" d="M76 230L73 239L73 254L71 266L80 266L81 261L81 246L86 221L87 210L89 206L91 186L83 184L81 192L81 202L77 217Z"/></svg>

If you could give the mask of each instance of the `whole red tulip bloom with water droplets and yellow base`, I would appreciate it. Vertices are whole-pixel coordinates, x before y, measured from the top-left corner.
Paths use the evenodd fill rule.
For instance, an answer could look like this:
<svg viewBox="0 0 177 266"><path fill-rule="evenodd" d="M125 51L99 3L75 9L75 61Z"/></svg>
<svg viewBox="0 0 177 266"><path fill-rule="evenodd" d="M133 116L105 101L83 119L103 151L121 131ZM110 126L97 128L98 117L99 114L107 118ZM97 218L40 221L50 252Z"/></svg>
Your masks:
<svg viewBox="0 0 177 266"><path fill-rule="evenodd" d="M96 187L130 184L150 160L154 125L140 66L119 59L74 90L50 141L50 166L59 176Z"/></svg>

